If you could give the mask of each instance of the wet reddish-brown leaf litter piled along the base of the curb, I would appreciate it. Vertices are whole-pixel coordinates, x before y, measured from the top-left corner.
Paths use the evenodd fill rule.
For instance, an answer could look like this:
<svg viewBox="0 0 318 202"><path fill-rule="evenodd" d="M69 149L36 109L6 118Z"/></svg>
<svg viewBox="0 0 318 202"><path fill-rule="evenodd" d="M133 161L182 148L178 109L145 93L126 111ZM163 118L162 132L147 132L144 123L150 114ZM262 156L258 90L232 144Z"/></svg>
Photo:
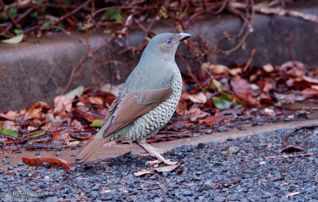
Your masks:
<svg viewBox="0 0 318 202"><path fill-rule="evenodd" d="M318 110L317 67L290 61L243 72L244 66L202 65L199 83L183 75L176 113L158 134L147 137L147 143L210 134L221 126L308 118ZM3 151L80 146L99 130L122 85L106 84L99 91L79 86L56 96L53 105L38 101L29 109L4 111L0 114ZM295 103L304 107L294 107ZM131 141L117 141L122 143Z"/></svg>

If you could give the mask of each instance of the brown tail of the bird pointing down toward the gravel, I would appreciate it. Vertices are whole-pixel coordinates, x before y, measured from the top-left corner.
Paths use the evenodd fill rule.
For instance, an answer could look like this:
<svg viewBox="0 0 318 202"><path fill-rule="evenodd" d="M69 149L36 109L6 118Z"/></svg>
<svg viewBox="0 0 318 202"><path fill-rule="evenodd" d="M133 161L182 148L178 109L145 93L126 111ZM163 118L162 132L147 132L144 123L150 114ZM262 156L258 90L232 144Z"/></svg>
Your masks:
<svg viewBox="0 0 318 202"><path fill-rule="evenodd" d="M79 164L85 163L100 147L102 147L109 138L102 138L100 133L87 140L87 142L79 149L75 155L76 162Z"/></svg>

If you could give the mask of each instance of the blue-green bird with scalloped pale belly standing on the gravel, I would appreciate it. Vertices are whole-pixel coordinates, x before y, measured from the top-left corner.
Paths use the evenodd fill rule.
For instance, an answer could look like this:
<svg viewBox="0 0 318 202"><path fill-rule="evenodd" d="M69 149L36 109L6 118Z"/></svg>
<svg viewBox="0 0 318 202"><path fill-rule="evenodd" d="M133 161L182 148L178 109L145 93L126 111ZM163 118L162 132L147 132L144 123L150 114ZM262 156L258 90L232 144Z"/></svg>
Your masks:
<svg viewBox="0 0 318 202"><path fill-rule="evenodd" d="M84 164L105 143L133 140L157 160L150 166L177 162L166 160L146 144L149 134L160 130L174 114L182 91L182 77L175 62L178 45L188 33L161 33L154 36L115 97L102 127L79 149L75 161Z"/></svg>

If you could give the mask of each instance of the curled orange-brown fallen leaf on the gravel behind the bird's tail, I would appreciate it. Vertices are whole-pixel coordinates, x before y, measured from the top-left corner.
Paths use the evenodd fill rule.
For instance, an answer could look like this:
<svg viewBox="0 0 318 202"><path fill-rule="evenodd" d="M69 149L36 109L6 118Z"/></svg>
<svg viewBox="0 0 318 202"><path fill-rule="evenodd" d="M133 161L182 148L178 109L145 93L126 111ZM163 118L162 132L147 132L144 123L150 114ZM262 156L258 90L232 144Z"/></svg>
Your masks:
<svg viewBox="0 0 318 202"><path fill-rule="evenodd" d="M55 159L55 158L36 158L36 159L28 159L22 157L23 163L30 165L30 166L42 166L43 162L49 162L51 166L64 166L71 168L73 165L67 162L64 159Z"/></svg>

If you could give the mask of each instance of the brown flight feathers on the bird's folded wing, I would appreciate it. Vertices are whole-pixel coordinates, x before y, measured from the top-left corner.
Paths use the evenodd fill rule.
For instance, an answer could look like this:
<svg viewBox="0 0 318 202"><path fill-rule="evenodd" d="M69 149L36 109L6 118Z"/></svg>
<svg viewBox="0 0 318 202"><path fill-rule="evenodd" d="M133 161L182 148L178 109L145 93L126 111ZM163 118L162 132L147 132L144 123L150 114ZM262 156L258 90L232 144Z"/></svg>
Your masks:
<svg viewBox="0 0 318 202"><path fill-rule="evenodd" d="M111 122L105 129L103 138L157 107L162 101L168 99L171 93L172 88L169 87L141 92L128 91L120 101L116 100L116 97L116 103L114 104L114 100L109 108L111 111L106 116L107 119L111 118Z"/></svg>

